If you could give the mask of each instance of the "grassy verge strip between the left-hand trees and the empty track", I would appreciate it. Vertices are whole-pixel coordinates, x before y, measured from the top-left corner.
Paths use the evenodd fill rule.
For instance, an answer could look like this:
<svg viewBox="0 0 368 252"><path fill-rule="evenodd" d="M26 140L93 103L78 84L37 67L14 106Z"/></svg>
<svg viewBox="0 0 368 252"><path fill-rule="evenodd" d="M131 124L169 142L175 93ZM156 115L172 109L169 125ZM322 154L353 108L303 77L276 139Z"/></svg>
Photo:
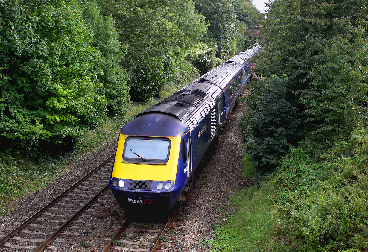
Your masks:
<svg viewBox="0 0 368 252"><path fill-rule="evenodd" d="M38 156L33 160L15 160L0 155L0 217L13 210L9 206L12 200L45 188L54 179L74 167L76 162L81 162L85 155L108 146L117 139L121 127L140 111L160 102L179 88L180 86L175 85L165 86L160 97L153 99L153 102L152 100L146 103L130 102L126 106L124 116L106 118L103 127L87 132L86 137L78 142L71 152Z"/></svg>

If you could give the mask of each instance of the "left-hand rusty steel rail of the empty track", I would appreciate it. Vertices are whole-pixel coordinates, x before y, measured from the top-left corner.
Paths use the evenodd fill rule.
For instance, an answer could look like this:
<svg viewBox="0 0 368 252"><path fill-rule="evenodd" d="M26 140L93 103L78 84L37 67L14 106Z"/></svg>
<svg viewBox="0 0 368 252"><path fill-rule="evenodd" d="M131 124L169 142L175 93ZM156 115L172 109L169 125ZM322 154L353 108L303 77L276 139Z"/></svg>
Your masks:
<svg viewBox="0 0 368 252"><path fill-rule="evenodd" d="M96 166L95 168L93 168L89 173L87 173L84 177L82 177L80 180L78 180L77 182L75 182L71 187L69 187L68 189L66 189L64 192L62 192L59 196L57 196L56 198L54 198L52 201L50 201L49 203L47 203L44 207L42 207L40 210L38 210L36 213L34 213L31 217L29 217L28 219L26 219L25 221L23 221L23 223L21 223L19 226L17 226L16 228L14 228L12 231L10 231L7 235L4 235L2 238L0 238L0 245L3 245L8 239L10 239L11 237L13 237L16 233L18 233L22 228L24 228L25 226L27 226L29 223L31 223L31 221L33 221L34 219L36 219L38 216L40 216L42 213L45 212L46 209L48 209L49 207L51 207L54 203L56 203L60 198L64 197L66 194L68 194L68 192L70 192L72 189L74 189L75 187L77 187L77 185L79 185L81 182L83 182L86 178L88 178L92 173L94 173L96 170L98 170L99 168L101 168L104 164L106 164L107 162L110 161L110 159L112 159L112 157L115 155L116 153L114 153L113 155L111 155L110 157L108 157L105 161L103 161L101 164L99 164L98 166Z"/></svg>

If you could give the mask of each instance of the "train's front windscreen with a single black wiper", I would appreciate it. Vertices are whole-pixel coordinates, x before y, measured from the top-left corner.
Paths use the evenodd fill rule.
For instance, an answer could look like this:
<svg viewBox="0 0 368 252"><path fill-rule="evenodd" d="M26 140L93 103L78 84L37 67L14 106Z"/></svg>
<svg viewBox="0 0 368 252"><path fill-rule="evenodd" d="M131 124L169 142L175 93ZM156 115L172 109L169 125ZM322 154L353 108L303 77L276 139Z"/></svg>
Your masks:
<svg viewBox="0 0 368 252"><path fill-rule="evenodd" d="M123 157L136 161L167 161L169 159L169 139L127 138Z"/></svg>

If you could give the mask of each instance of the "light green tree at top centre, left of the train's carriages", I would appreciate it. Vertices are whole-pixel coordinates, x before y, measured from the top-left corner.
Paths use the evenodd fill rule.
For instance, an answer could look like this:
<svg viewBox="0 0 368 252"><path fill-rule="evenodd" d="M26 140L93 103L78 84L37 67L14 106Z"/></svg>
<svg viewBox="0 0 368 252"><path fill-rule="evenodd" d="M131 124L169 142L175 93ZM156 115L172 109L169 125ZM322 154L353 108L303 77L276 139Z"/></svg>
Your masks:
<svg viewBox="0 0 368 252"><path fill-rule="evenodd" d="M130 73L132 100L146 100L173 79L176 60L207 32L191 0L99 0L111 13L119 41L128 47L123 68Z"/></svg>

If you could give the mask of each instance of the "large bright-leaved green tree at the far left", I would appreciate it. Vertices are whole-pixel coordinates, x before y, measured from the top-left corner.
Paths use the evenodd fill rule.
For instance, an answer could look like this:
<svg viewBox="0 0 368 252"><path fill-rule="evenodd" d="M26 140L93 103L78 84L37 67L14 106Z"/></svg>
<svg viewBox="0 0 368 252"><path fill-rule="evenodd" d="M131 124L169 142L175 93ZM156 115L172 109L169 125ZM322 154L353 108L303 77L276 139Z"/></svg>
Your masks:
<svg viewBox="0 0 368 252"><path fill-rule="evenodd" d="M26 6L28 4L28 6ZM100 124L104 97L92 34L74 0L0 0L0 141L14 155Z"/></svg>

